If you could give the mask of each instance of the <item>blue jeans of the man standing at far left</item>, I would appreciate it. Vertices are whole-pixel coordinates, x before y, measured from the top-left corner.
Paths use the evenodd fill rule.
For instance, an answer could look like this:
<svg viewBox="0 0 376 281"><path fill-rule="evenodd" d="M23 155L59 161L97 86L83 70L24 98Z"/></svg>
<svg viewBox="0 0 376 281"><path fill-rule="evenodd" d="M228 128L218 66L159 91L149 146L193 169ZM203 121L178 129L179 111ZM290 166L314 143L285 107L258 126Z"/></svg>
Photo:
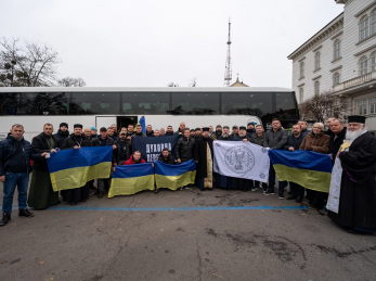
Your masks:
<svg viewBox="0 0 376 281"><path fill-rule="evenodd" d="M29 175L24 173L5 171L4 197L2 200L2 213L12 213L12 203L15 188L18 189L18 209L26 208L27 189L29 186Z"/></svg>

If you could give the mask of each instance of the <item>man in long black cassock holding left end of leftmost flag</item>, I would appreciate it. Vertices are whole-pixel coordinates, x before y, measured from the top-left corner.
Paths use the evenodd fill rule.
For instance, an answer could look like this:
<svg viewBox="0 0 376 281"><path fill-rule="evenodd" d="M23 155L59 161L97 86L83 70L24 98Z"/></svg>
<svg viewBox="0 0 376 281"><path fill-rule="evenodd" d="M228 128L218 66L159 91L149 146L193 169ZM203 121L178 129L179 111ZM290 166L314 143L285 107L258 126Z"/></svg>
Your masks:
<svg viewBox="0 0 376 281"><path fill-rule="evenodd" d="M33 153L56 153L60 139L52 136L53 126L44 124L43 132L33 138ZM59 192L53 191L49 167L44 157L38 157L33 165L33 178L28 196L28 205L36 209L44 209L59 204Z"/></svg>

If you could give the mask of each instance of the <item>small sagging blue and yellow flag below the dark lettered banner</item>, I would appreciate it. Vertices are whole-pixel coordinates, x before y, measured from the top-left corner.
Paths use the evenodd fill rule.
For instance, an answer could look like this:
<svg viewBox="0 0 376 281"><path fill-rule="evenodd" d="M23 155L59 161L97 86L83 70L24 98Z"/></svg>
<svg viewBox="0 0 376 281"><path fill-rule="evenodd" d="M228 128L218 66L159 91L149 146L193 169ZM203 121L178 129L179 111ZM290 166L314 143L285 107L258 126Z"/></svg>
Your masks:
<svg viewBox="0 0 376 281"><path fill-rule="evenodd" d="M193 159L180 165L169 165L159 161L155 162L155 180L157 188L177 190L180 187L195 182L196 166Z"/></svg>

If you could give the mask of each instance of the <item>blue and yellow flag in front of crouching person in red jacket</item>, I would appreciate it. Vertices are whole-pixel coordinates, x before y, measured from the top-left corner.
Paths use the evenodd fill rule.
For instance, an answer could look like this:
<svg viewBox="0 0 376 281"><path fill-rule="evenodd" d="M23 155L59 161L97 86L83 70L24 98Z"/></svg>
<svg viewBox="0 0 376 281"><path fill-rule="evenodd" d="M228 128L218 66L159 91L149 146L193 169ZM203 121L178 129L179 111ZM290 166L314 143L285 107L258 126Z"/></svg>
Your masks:
<svg viewBox="0 0 376 281"><path fill-rule="evenodd" d="M108 197L132 195L142 190L154 190L152 163L117 166L115 168Z"/></svg>

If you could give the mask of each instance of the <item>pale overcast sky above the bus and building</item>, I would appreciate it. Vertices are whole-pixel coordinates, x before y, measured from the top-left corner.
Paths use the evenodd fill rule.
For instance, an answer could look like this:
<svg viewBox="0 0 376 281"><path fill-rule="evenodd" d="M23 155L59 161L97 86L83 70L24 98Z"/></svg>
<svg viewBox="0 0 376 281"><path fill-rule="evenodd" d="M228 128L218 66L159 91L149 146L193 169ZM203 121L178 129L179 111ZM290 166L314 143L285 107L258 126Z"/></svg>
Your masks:
<svg viewBox="0 0 376 281"><path fill-rule="evenodd" d="M0 36L48 43L88 86L291 87L287 55L343 10L334 0L0 0Z"/></svg>

